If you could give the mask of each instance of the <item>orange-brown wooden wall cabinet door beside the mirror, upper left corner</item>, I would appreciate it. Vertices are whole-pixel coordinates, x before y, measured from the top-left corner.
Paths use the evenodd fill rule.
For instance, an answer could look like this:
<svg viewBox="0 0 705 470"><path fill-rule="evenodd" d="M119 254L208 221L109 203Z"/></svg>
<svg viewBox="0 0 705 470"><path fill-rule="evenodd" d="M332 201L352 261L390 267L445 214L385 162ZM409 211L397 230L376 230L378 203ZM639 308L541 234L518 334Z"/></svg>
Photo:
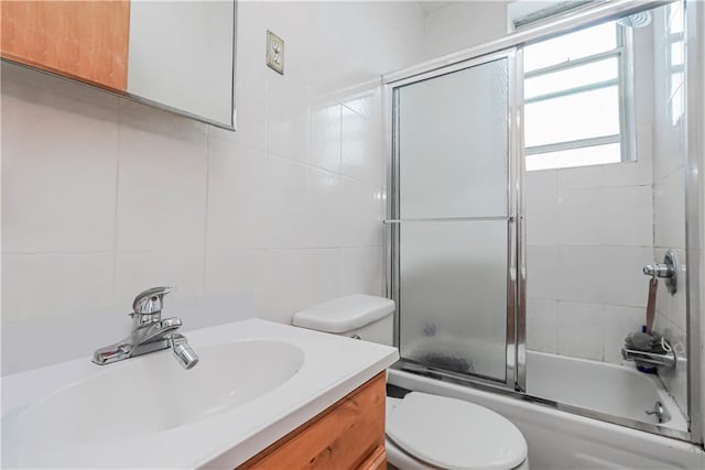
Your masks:
<svg viewBox="0 0 705 470"><path fill-rule="evenodd" d="M126 91L129 0L3 0L0 55Z"/></svg>

